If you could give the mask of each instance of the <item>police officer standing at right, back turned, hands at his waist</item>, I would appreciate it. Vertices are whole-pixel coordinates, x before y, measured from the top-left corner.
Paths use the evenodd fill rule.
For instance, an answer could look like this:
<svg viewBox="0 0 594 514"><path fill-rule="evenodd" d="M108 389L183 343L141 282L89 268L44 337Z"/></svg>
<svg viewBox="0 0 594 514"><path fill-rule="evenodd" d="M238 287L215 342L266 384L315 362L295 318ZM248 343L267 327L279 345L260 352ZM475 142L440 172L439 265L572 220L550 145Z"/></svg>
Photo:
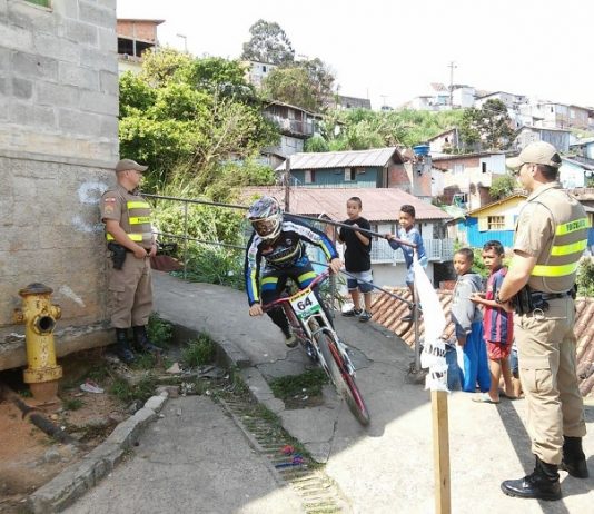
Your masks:
<svg viewBox="0 0 594 514"><path fill-rule="evenodd" d="M515 335L536 465L531 475L503 482L502 490L509 496L560 500L558 469L588 476L573 333L575 275L588 223L582 205L556 181L561 157L555 147L533 142L506 165L529 196L496 302L511 309L509 300L517 295Z"/></svg>

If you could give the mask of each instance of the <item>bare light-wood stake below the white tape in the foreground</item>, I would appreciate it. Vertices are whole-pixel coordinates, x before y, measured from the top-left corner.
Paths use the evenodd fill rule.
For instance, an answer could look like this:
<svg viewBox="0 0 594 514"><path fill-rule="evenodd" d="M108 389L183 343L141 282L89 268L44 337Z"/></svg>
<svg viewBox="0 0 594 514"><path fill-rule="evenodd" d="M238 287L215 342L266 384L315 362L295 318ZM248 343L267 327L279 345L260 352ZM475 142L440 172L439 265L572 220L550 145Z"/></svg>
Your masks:
<svg viewBox="0 0 594 514"><path fill-rule="evenodd" d="M433 464L435 468L435 512L451 514L449 495L449 426L447 393L432 391Z"/></svg>

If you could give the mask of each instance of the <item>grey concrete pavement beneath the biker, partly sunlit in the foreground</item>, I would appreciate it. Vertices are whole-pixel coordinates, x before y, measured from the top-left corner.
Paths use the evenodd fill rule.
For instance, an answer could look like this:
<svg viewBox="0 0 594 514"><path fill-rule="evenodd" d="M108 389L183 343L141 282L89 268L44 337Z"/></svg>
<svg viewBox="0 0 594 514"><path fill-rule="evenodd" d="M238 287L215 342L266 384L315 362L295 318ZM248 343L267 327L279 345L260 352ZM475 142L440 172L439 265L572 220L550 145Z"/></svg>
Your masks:
<svg viewBox="0 0 594 514"><path fill-rule="evenodd" d="M285 428L319 461L327 461L325 472L346 497L346 512L435 512L429 393L405 382L413 354L403 342L376 325L336 319L338 333L356 353L357 382L373 417L368 428L357 424L330 388L325 392L323 405L288 411L273 397L265 377L300 373L306 363L300 350L287 350L280 333L268 319L250 318L241 293L155 275L157 310L161 316L208 332L227 355L244 366L242 375L253 393L277 412ZM205 406L209 405L207 398L187 402L182 407L182 416L187 416L184 423L172 417L177 401L170 401L167 417L141 437L136 456L90 493L89 498L97 500L83 498L71 512L142 512L136 507L113 510L118 505L138 505L118 503L129 496L136 501L150 498L145 505L161 507L147 512L301 512L290 490L265 477L266 469L260 473L259 464L249 461L244 466L242 459L234 458L235 452L247 456L250 451L240 438L232 439L236 446L229 451L228 437L235 429L229 419L224 423L218 406ZM192 406L196 413L191 413ZM495 406L476 404L467 394L455 393L448 397L448 408L452 512L592 512L593 407L586 409L590 432L584 439L593 477L580 481L562 473L564 498L553 503L511 498L499 491L502 480L532 471L533 457L523 424L524 401ZM168 422L170 417L172 422ZM164 459L164 455L168 458ZM211 468L225 480L214 480ZM208 478L202 480L205 476ZM237 494L229 493L235 490ZM100 497L110 508L92 510L103 505L97 503Z"/></svg>

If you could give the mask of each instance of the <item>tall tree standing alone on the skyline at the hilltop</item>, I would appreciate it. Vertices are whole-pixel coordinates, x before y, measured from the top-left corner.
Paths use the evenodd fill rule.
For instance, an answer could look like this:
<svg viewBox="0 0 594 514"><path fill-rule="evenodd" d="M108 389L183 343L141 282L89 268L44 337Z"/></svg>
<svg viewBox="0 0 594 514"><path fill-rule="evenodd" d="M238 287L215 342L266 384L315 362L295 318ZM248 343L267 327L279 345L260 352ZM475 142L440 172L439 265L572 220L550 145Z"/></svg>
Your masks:
<svg viewBox="0 0 594 514"><path fill-rule="evenodd" d="M289 38L274 21L258 20L249 28L251 38L244 43L241 59L271 65L286 65L295 59Z"/></svg>

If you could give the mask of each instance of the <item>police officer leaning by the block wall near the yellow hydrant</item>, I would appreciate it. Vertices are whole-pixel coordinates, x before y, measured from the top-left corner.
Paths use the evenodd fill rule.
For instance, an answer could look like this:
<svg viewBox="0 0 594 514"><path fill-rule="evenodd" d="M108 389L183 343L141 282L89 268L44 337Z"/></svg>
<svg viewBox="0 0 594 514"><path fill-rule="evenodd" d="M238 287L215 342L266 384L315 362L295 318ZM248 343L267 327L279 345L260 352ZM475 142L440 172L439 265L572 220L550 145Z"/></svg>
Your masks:
<svg viewBox="0 0 594 514"><path fill-rule="evenodd" d="M152 310L149 257L157 254L150 206L138 194L147 168L131 159L120 160L116 165L117 186L101 197L101 220L106 224L113 260L109 267L109 293L113 302L111 325L116 328L116 354L127 364L135 360L128 344L130 326L135 349L158 350L148 340L146 330Z"/></svg>

